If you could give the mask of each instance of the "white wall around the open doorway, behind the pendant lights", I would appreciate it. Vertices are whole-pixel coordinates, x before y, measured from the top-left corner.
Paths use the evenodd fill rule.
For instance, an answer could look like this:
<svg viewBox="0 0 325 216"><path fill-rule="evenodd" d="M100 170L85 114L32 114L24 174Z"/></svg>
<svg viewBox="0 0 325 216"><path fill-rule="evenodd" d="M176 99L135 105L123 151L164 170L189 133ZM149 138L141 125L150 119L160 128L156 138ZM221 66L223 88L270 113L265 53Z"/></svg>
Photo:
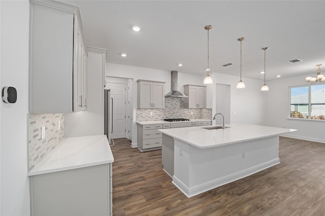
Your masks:
<svg viewBox="0 0 325 216"><path fill-rule="evenodd" d="M263 81L243 78L246 87L237 89L239 77L217 73L212 73L210 76L214 84L208 85L211 96L207 95L207 100L212 100L212 115L216 113L216 83L226 84L231 85L231 123L265 125L267 92L261 91Z"/></svg>

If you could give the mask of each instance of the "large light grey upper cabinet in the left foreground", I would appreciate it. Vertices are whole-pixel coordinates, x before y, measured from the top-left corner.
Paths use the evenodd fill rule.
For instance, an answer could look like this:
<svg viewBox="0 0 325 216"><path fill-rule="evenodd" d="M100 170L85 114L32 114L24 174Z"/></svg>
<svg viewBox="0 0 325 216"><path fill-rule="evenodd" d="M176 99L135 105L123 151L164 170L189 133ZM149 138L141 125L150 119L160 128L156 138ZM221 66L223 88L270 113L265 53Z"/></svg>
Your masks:
<svg viewBox="0 0 325 216"><path fill-rule="evenodd" d="M79 8L30 1L29 113L86 109L87 51Z"/></svg>

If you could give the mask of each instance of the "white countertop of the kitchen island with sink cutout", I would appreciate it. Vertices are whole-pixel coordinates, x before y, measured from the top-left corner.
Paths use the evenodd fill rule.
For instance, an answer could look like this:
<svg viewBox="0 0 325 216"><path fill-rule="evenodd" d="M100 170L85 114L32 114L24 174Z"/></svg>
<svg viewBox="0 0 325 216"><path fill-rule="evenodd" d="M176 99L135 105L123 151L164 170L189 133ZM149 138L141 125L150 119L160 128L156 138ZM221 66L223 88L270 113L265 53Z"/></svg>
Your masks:
<svg viewBox="0 0 325 216"><path fill-rule="evenodd" d="M159 129L159 131L201 149L229 145L231 143L265 138L296 131L295 129L250 124L226 124L225 126L230 128L225 128L224 130L207 130L204 128L212 126L200 126Z"/></svg>

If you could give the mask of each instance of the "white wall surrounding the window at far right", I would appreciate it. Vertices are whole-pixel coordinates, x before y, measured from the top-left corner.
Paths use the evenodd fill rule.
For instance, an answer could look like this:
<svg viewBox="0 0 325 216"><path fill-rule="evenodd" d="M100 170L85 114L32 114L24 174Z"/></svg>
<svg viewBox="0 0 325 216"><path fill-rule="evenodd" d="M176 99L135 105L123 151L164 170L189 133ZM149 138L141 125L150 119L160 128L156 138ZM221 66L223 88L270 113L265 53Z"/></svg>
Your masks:
<svg viewBox="0 0 325 216"><path fill-rule="evenodd" d="M310 76L315 76L311 74ZM305 77L291 77L267 82L270 90L267 93L266 125L297 129L286 134L288 137L325 142L325 121L288 119L289 87L307 85Z"/></svg>

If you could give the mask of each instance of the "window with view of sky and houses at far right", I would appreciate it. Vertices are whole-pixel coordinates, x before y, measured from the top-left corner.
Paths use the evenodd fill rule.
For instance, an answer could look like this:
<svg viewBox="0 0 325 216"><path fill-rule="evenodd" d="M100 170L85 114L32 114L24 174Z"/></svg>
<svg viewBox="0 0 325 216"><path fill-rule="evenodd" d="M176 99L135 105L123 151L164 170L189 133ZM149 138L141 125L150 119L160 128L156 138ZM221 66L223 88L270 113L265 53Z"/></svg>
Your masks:
<svg viewBox="0 0 325 216"><path fill-rule="evenodd" d="M325 84L290 87L290 118L325 120Z"/></svg>

